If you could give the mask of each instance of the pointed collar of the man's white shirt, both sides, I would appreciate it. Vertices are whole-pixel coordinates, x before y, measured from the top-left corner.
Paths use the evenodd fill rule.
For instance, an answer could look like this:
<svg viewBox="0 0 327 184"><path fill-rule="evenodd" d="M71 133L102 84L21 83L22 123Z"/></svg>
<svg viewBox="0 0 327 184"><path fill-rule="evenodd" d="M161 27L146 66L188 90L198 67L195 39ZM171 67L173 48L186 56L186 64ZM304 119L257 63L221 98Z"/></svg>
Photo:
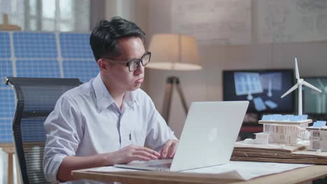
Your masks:
<svg viewBox="0 0 327 184"><path fill-rule="evenodd" d="M109 93L108 89L103 83L100 73L94 79L93 88L96 95L96 106L98 112L102 112L103 109L106 109L115 103L115 100L112 98L112 95ZM123 102L126 102L129 107L133 107L134 104L138 104L135 93L135 91L128 91L125 93Z"/></svg>

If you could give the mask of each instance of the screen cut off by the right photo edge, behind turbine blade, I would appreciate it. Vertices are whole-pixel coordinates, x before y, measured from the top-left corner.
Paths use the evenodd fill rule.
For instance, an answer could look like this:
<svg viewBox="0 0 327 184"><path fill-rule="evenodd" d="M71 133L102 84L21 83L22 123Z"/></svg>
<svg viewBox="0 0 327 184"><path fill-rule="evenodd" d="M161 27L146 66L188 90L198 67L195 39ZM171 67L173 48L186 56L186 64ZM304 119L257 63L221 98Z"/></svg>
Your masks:
<svg viewBox="0 0 327 184"><path fill-rule="evenodd" d="M326 114L327 77L304 77L303 79L321 90L321 93L319 93L303 86L303 112L307 114Z"/></svg>

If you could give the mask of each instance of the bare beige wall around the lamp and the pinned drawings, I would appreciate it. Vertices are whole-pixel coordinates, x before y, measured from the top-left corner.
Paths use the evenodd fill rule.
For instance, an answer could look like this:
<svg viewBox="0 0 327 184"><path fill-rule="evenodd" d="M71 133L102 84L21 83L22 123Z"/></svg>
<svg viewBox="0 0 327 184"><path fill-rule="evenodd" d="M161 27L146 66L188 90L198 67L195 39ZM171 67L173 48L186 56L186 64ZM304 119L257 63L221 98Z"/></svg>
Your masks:
<svg viewBox="0 0 327 184"><path fill-rule="evenodd" d="M111 1L117 3L116 1ZM121 9L122 17L135 21L146 33L147 44L154 33L171 33L171 0L142 0L131 1L125 9ZM222 100L221 71L226 69L273 69L293 68L293 57L298 57L300 75L326 76L327 72L327 42L312 43L274 43L257 44L256 0L252 0L252 45L199 45L203 70L196 72L167 72L146 69L143 89L152 97L159 112L163 103L166 77L177 75L180 77L182 90L187 104L192 101ZM120 6L122 7L122 6ZM131 12L128 11L128 7ZM106 15L111 17L115 10L107 6ZM116 12L117 13L117 12ZM185 121L180 98L176 90L173 93L173 103L170 112L170 127L180 136Z"/></svg>

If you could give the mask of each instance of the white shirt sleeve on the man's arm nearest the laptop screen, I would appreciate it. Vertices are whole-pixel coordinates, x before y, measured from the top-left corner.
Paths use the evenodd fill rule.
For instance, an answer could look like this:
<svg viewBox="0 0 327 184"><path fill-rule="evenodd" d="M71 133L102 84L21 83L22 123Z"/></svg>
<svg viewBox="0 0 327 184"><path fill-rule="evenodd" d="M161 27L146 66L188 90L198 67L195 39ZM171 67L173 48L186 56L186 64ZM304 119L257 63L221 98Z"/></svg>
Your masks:
<svg viewBox="0 0 327 184"><path fill-rule="evenodd" d="M147 123L147 137L145 145L150 145L154 150L159 151L161 146L169 139L177 139L174 132L168 127L166 121L154 107L150 100L152 112L150 113L149 122Z"/></svg>

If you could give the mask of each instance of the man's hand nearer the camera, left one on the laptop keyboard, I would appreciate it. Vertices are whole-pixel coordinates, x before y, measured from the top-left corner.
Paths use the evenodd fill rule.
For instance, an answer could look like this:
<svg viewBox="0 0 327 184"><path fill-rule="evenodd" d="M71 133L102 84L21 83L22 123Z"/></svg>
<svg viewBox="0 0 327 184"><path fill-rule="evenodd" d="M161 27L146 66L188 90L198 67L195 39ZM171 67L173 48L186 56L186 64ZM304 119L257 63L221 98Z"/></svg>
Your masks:
<svg viewBox="0 0 327 184"><path fill-rule="evenodd" d="M126 164L134 160L148 161L158 159L160 154L150 148L143 146L129 145L119 151L112 152L110 160L112 164Z"/></svg>

